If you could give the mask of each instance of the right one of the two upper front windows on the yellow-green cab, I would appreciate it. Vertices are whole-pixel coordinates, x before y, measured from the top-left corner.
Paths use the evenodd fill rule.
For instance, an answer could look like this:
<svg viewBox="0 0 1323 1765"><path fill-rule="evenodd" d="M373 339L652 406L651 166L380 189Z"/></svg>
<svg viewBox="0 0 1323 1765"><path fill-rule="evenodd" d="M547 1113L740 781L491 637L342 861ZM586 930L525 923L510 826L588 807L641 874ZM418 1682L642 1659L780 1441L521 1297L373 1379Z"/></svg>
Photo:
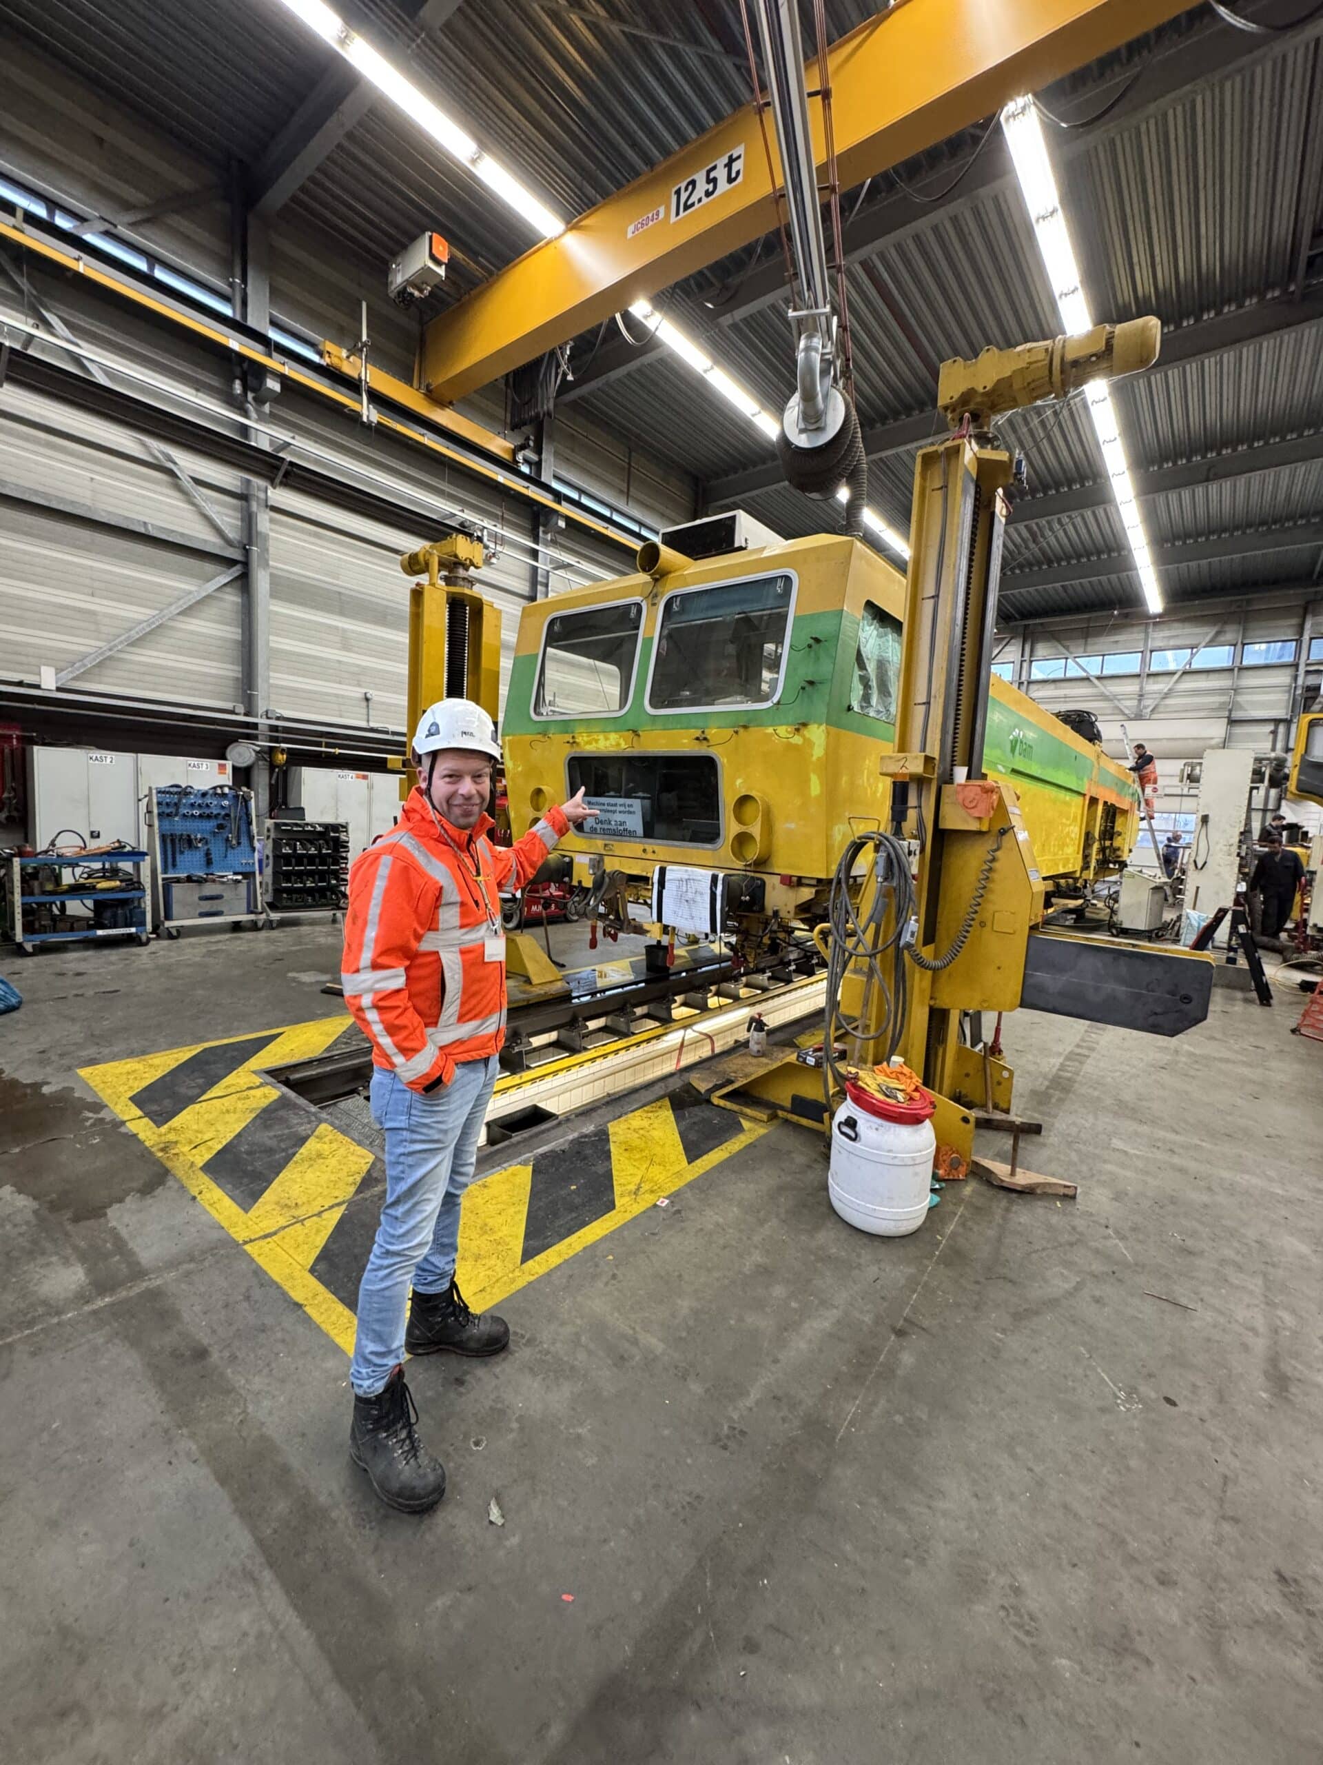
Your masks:
<svg viewBox="0 0 1323 1765"><path fill-rule="evenodd" d="M662 602L651 711L774 704L785 671L794 577L684 588Z"/></svg>

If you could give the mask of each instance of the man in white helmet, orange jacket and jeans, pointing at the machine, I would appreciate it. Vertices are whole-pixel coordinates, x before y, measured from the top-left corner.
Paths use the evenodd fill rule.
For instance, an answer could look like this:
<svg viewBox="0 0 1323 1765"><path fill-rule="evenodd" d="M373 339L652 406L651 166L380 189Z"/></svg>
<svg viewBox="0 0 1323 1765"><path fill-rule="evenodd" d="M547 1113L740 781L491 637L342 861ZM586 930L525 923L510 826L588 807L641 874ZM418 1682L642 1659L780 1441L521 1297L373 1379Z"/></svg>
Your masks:
<svg viewBox="0 0 1323 1765"><path fill-rule="evenodd" d="M522 888L596 814L580 791L522 840L492 845L499 759L482 706L429 706L413 738L418 785L349 872L340 981L372 1041L372 1115L386 1135L386 1202L358 1288L349 1454L404 1513L425 1513L446 1488L418 1440L406 1348L483 1356L510 1341L505 1320L476 1317L455 1285L460 1202L505 1041L501 890Z"/></svg>

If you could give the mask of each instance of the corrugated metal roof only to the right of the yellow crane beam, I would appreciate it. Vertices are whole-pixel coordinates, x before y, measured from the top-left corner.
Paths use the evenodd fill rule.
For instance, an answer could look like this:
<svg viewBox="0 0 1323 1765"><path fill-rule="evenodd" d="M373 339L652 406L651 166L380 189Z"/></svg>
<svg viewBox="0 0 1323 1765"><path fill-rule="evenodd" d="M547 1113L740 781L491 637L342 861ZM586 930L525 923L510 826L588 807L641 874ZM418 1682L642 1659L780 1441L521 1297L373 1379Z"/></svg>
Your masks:
<svg viewBox="0 0 1323 1765"><path fill-rule="evenodd" d="M1187 18L1180 28L1194 25ZM1309 189L1300 189L1295 173L1305 162L1307 99L1319 53L1316 39L1274 46L1263 60L1155 115L1141 115L1132 127L1106 134L1069 162L1062 175L1064 201L1095 312L1125 318L1157 311L1168 325L1192 323L1272 298L1289 284L1302 229L1316 221L1311 199L1316 210L1318 192L1311 198ZM1138 62L1138 53L1132 58ZM1094 69L1088 78L1099 74ZM1071 85L1085 113L1088 78L1081 74ZM1064 92L1060 86L1051 94L1053 108L1069 108ZM1316 116L1312 127L1319 125ZM882 247L875 263L930 362L1055 328L1050 289L1016 191L995 189L956 214L935 215L926 228ZM864 429L926 408L933 399L931 372L857 267L850 274L850 312ZM790 379L783 318L764 311L736 321L721 332L721 344L723 358L767 408L776 408L767 388L783 395ZM654 372L640 369L589 397L594 415L614 422L614 404L626 397L644 408ZM1124 383L1117 399L1134 471L1312 432L1323 411L1323 325L1140 376ZM737 431L739 422L730 429ZM1004 434L1025 448L1035 491L1078 487L1101 477L1092 424L1078 402L1060 417L1050 411L1016 417ZM688 447L684 425L669 420L667 406L653 425L653 445L681 457ZM706 450L704 466L695 469L700 477L739 471L748 454L748 438L732 434L720 466ZM766 448L760 457L767 461ZM910 461L912 452L873 461L870 473L875 507L901 528L908 519ZM1215 491L1147 499L1145 521L1154 544L1180 544L1298 519L1312 512L1311 498L1318 508L1318 491L1319 478L1307 468L1293 475L1256 473ZM789 489L764 491L746 503L787 533L820 524L815 505ZM1005 563L1007 570L1051 561L1065 567L1122 547L1120 521L1106 508L1023 528L1013 522ZM1245 579L1244 560L1180 567L1162 572L1164 593L1191 591L1192 568L1214 588L1222 568L1228 581ZM1277 570L1274 565L1272 579ZM1252 561L1249 572L1254 574ZM1122 605L1134 605L1138 579L1043 588L1034 591L1034 604L1046 614L1090 598L1104 602L1110 593L1120 595Z"/></svg>

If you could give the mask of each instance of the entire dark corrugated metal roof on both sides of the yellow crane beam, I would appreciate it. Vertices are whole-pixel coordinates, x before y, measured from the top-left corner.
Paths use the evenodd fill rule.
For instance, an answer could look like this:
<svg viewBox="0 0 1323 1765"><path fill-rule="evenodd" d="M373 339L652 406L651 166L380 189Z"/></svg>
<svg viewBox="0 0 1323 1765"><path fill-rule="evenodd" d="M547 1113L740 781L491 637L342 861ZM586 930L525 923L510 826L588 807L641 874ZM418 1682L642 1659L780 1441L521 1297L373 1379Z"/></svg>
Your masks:
<svg viewBox="0 0 1323 1765"><path fill-rule="evenodd" d="M875 9L875 0L827 0L829 35L843 35ZM418 32L407 0L340 0L340 11L407 62L437 102L566 215L748 97L734 0L702 9L691 0L469 0L432 34ZM808 4L803 18L811 41ZM217 171L231 159L256 162L326 71L340 65L279 0L116 0L109 7L0 0L0 26L141 111ZM1053 150L1067 141L1073 148L1062 152L1060 182L1092 305L1102 316L1157 311L1164 323L1185 325L1270 298L1291 288L1302 247L1318 229L1321 192L1309 182L1318 180L1309 148L1323 131L1318 30L1268 44L1245 39L1237 71L1164 106L1145 106L1154 49L1171 69L1185 44L1210 32L1226 28L1207 9L1191 9L1046 94L1058 113L1088 116L1097 108L1094 94L1108 97L1118 76L1140 71L1134 120L1069 138L1048 131ZM912 185L924 171L963 162L977 138L979 131L967 131L898 169ZM850 205L889 194L889 180L878 178L861 196L852 192ZM448 298L531 242L515 215L385 101L302 185L288 214L330 238L346 259L369 267L363 274L376 274L425 226L441 226L455 247ZM764 244L759 261L769 254L774 261L776 249ZM755 249L744 249L711 265L677 295L693 304L723 288L729 293L753 256ZM930 409L933 365L944 357L1055 328L1023 205L1005 182L956 207L938 203L930 221L884 244L873 267L880 286L863 267L850 274L864 429ZM783 314L767 307L729 323L718 337L721 360L767 409L780 408L792 381ZM591 348L589 337L580 362ZM1309 432L1323 411L1323 325L1131 381L1118 392L1118 408L1136 471ZM769 459L764 438L674 362L654 360L609 381L582 409L699 478ZM1007 422L1005 434L1028 454L1035 491L1099 477L1092 427L1076 408L1025 413ZM910 469L910 454L896 454L873 461L870 471L873 505L900 528L908 521ZM1318 507L1321 489L1316 468L1258 473L1168 494L1147 503L1145 517L1154 544L1178 544L1295 521ZM787 533L834 526L838 514L785 487L750 498L748 507ZM1007 570L1043 561L1067 568L1118 545L1111 510L1013 524ZM1245 565L1180 567L1166 572L1164 591L1173 598L1192 591L1192 568L1207 572L1214 588L1224 586ZM1115 590L1106 579L1032 593L1041 611L1069 611L1081 598L1102 604L1113 591L1124 604L1136 600L1125 577Z"/></svg>

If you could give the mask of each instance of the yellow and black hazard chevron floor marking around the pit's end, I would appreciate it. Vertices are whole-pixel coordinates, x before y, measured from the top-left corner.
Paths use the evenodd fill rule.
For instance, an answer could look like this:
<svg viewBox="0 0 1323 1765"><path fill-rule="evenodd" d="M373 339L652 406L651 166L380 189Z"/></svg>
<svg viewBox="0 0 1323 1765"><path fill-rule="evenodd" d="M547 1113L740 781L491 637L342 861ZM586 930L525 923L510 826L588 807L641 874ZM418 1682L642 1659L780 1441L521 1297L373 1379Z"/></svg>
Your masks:
<svg viewBox="0 0 1323 1765"><path fill-rule="evenodd" d="M318 1018L79 1070L346 1354L381 1209L381 1184L358 1197L372 1153L265 1070L325 1054L348 1027L348 1017ZM460 1214L466 1299L497 1304L766 1131L683 1085L482 1177Z"/></svg>

